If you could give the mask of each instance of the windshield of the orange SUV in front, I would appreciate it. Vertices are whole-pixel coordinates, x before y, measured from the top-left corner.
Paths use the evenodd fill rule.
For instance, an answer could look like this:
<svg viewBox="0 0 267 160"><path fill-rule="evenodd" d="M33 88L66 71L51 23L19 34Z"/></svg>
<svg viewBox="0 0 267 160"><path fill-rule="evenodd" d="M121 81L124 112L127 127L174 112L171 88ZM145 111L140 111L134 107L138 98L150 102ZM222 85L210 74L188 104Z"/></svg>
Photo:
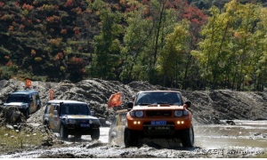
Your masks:
<svg viewBox="0 0 267 160"><path fill-rule="evenodd" d="M182 97L178 92L141 92L135 101L135 106L150 104L182 105Z"/></svg>

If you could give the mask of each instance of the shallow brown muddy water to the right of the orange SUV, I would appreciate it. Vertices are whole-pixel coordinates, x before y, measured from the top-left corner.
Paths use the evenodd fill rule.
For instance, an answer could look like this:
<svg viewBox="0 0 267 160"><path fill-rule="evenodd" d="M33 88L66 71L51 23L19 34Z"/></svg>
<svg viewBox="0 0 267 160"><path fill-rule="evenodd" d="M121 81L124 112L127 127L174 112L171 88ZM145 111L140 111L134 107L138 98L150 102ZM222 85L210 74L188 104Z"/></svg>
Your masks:
<svg viewBox="0 0 267 160"><path fill-rule="evenodd" d="M201 148L267 148L267 121L233 122L234 125L196 125L196 145Z"/></svg>

